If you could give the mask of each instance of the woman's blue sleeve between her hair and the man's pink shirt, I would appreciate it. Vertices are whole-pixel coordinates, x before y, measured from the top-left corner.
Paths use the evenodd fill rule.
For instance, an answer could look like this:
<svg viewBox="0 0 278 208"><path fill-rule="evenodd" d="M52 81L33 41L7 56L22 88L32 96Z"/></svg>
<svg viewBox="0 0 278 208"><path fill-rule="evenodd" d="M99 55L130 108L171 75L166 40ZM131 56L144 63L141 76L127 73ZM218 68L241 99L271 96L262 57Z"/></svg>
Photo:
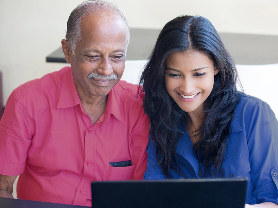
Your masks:
<svg viewBox="0 0 278 208"><path fill-rule="evenodd" d="M143 180L163 180L166 179L166 177L162 173L162 169L158 164L156 151L155 151L155 144L150 139L148 148L148 163L147 163L147 169L144 174Z"/></svg>

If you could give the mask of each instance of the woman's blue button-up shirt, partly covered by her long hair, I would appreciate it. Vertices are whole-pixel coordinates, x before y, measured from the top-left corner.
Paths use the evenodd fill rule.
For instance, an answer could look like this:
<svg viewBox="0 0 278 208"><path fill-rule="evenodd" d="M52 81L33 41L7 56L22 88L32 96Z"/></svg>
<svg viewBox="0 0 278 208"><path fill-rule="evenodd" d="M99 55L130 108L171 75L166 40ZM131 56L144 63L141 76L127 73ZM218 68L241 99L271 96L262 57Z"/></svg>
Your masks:
<svg viewBox="0 0 278 208"><path fill-rule="evenodd" d="M245 203L278 204L278 122L269 105L258 98L241 94L234 118L222 168L225 178L247 177ZM186 130L185 130L186 131ZM187 132L177 147L177 158L182 161L185 175L200 178L198 164L193 155L193 144ZM155 144L148 144L148 164L144 180L166 179L157 162ZM171 170L174 178L182 178ZM205 176L210 177L210 176Z"/></svg>

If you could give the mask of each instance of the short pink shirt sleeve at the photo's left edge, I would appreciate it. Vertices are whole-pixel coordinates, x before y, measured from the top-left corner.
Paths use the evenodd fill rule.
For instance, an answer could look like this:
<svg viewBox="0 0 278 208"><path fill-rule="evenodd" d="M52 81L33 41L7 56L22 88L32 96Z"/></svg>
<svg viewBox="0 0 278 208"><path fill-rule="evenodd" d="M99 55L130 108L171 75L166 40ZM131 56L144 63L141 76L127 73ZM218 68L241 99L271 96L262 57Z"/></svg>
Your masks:
<svg viewBox="0 0 278 208"><path fill-rule="evenodd" d="M27 111L16 97L10 95L0 121L0 174L7 176L23 173L32 141Z"/></svg>

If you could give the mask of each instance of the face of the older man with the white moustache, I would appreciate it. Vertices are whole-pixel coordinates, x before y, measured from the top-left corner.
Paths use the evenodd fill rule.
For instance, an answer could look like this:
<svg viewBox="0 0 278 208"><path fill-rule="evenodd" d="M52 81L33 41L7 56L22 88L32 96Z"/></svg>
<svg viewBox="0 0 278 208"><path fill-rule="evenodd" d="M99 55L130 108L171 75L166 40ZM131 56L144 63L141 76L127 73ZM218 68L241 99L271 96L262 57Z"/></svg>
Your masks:
<svg viewBox="0 0 278 208"><path fill-rule="evenodd" d="M125 69L126 24L111 16L88 15L81 21L81 41L70 55L76 88L79 94L107 95Z"/></svg>

